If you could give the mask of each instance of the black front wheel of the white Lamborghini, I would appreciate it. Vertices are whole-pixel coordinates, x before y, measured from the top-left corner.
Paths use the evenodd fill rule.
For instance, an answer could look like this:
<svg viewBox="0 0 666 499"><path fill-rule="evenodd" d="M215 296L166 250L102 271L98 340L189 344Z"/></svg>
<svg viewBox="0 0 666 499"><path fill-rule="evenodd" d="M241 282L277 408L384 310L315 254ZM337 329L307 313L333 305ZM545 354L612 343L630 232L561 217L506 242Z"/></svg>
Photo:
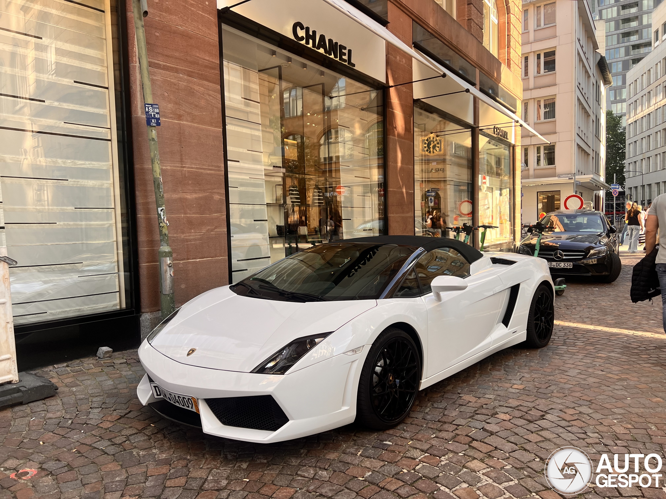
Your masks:
<svg viewBox="0 0 666 499"><path fill-rule="evenodd" d="M393 366L386 369L386 365ZM394 371L395 369L395 371ZM406 418L418 394L421 360L414 340L389 327L373 343L358 381L356 422L388 430Z"/></svg>

